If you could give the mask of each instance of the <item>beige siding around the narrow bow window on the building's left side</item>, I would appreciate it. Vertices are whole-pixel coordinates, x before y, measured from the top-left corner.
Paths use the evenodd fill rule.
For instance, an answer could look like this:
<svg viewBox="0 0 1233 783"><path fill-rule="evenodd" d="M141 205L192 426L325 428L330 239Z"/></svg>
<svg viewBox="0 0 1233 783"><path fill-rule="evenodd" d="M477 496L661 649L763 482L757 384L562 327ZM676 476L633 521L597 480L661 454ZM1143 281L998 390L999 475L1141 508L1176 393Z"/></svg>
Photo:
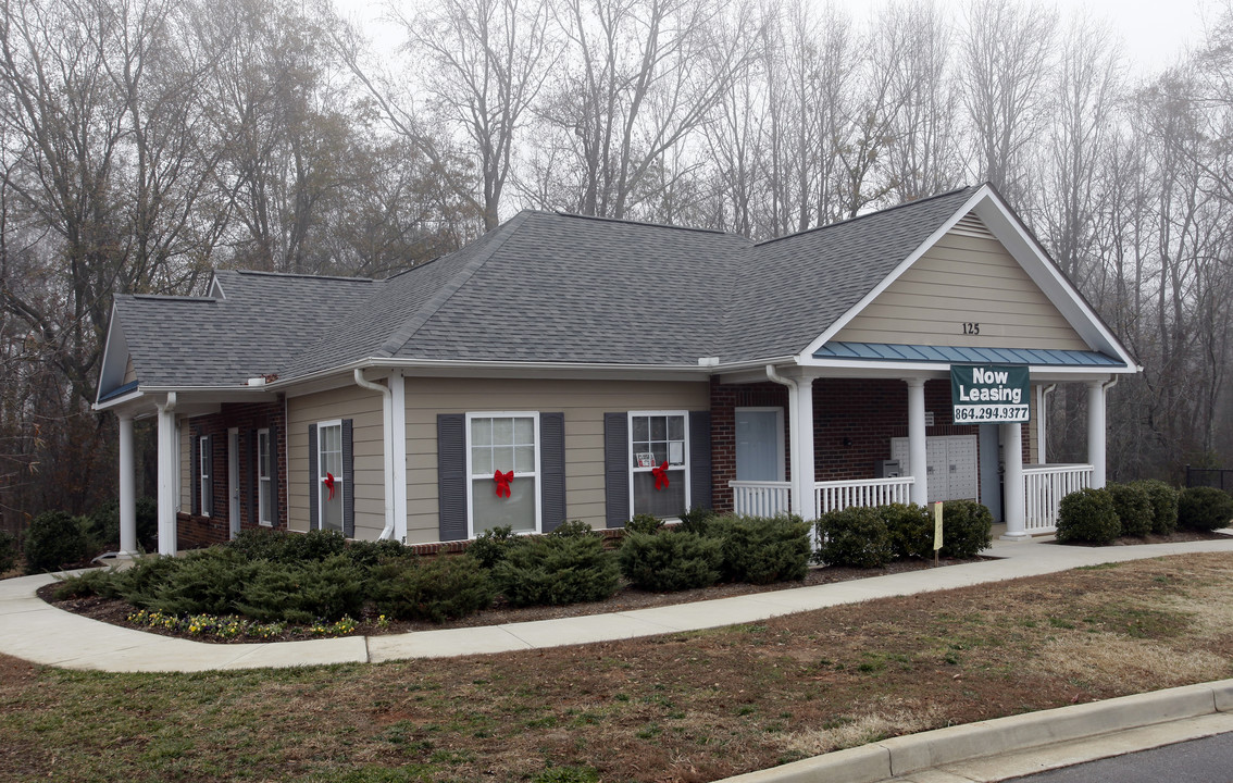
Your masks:
<svg viewBox="0 0 1233 783"><path fill-rule="evenodd" d="M355 538L385 528L385 443L381 395L348 386L287 400L287 527L308 530L308 425L351 419Z"/></svg>

